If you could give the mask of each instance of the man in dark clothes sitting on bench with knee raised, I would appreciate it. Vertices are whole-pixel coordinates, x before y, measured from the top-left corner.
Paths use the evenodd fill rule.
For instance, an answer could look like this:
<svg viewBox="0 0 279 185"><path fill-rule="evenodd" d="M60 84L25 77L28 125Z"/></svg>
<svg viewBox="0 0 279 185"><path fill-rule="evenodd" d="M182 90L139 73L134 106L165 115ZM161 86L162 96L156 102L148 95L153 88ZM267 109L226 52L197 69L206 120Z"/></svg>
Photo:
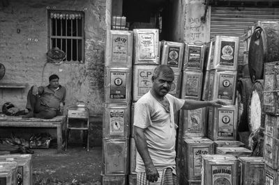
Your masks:
<svg viewBox="0 0 279 185"><path fill-rule="evenodd" d="M27 95L27 106L29 113L22 118L44 118L51 119L63 113L65 104L66 88L59 85L59 77L52 74L49 77L48 86L32 86Z"/></svg>

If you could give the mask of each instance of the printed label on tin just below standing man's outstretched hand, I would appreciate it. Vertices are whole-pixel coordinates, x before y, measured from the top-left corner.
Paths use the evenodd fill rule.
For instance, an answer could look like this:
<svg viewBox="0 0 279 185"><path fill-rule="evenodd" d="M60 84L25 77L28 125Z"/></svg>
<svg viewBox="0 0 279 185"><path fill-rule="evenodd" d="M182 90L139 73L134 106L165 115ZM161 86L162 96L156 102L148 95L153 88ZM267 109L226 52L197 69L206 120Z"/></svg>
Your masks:
<svg viewBox="0 0 279 185"><path fill-rule="evenodd" d="M218 110L218 136L234 136L234 111Z"/></svg>

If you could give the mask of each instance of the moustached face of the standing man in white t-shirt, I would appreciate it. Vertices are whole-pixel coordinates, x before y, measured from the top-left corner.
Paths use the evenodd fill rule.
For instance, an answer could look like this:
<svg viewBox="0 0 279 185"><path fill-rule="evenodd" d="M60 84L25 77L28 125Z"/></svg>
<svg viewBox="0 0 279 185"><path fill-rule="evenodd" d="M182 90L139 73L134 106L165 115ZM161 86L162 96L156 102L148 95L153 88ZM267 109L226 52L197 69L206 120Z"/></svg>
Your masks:
<svg viewBox="0 0 279 185"><path fill-rule="evenodd" d="M167 95L172 87L172 81L174 81L174 77L164 76L162 72L160 72L159 77L153 79L152 89L154 93L160 97Z"/></svg>

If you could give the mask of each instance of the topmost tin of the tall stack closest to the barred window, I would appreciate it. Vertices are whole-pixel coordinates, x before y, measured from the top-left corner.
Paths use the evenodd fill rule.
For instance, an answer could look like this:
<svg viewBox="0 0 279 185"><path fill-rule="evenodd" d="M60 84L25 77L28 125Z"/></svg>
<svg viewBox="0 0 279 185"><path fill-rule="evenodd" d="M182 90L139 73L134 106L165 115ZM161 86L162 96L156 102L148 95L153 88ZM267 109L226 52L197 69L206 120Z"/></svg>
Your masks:
<svg viewBox="0 0 279 185"><path fill-rule="evenodd" d="M133 31L107 31L105 66L132 67Z"/></svg>

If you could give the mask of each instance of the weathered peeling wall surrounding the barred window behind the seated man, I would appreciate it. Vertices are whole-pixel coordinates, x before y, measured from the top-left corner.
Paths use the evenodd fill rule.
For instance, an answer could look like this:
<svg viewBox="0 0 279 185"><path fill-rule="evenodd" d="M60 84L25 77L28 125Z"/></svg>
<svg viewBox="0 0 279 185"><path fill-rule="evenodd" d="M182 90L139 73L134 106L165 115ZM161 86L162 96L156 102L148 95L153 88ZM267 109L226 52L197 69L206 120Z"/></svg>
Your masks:
<svg viewBox="0 0 279 185"><path fill-rule="evenodd" d="M13 102L24 108L29 88L33 84L47 85L50 74L58 74L67 89L66 106L83 101L91 115L102 115L105 34L109 23L106 16L111 11L106 6L105 0L9 0L8 6L0 4L0 63L6 66L0 83L28 84L23 93L20 89L0 89L0 106ZM84 11L85 63L45 64L47 10Z"/></svg>

